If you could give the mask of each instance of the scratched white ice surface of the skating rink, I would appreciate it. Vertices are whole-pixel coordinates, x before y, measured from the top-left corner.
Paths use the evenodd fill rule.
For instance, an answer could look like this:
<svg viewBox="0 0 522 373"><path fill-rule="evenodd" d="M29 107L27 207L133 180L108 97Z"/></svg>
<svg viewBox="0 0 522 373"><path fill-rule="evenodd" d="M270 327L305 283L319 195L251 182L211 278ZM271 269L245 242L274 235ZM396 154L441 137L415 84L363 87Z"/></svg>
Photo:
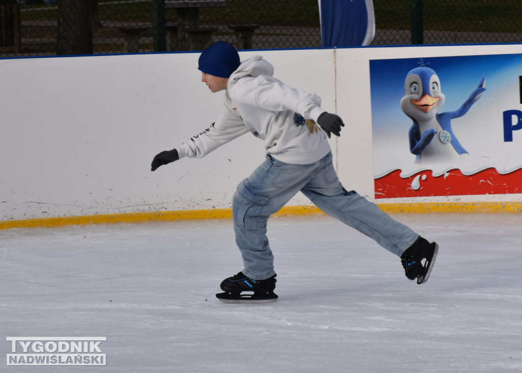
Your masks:
<svg viewBox="0 0 522 373"><path fill-rule="evenodd" d="M423 285L327 216L274 217L276 303L225 304L229 220L0 231L0 372L520 372L522 215L396 214ZM7 366L6 337L107 338L106 366Z"/></svg>

